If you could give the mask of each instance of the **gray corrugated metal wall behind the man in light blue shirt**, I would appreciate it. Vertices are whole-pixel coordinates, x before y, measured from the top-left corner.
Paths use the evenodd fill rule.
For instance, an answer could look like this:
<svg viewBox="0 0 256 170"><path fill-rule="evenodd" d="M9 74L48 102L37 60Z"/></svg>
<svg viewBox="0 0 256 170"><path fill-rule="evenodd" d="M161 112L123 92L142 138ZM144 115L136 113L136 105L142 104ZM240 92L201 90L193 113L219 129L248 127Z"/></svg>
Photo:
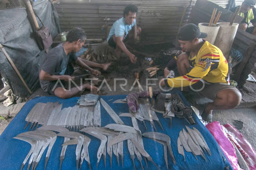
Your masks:
<svg viewBox="0 0 256 170"><path fill-rule="evenodd" d="M190 14L190 5L195 2L191 0L176 1L118 1L118 0L62 0L55 4L60 18L62 31L68 31L73 27L81 27L85 30L88 38L103 38L104 33L101 26L105 24L105 17L110 18L108 25L123 17L126 5L135 4L139 12L136 23L143 30L147 41L165 41L176 37L184 7L187 6L183 22L186 22Z"/></svg>

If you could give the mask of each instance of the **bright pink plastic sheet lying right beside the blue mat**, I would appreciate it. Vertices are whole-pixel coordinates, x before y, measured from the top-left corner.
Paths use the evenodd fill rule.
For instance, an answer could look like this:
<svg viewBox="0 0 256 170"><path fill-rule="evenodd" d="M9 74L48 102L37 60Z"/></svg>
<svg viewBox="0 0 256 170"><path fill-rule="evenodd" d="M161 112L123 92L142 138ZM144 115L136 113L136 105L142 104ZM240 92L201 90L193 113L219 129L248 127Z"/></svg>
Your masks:
<svg viewBox="0 0 256 170"><path fill-rule="evenodd" d="M236 150L228 139L225 129L220 125L220 122L212 122L207 124L205 127L211 132L212 136L220 145L220 148L224 152L233 169L241 170L237 162Z"/></svg>

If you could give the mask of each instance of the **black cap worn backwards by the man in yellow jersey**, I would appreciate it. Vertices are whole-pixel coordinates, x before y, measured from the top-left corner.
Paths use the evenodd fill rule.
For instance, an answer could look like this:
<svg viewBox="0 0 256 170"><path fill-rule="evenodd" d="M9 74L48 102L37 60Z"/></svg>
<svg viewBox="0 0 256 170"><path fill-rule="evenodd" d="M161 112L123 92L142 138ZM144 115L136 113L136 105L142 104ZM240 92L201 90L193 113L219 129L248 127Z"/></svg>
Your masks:
<svg viewBox="0 0 256 170"><path fill-rule="evenodd" d="M195 24L186 24L181 26L178 32L178 40L189 41L194 38L206 38L207 33L201 33L200 29Z"/></svg>

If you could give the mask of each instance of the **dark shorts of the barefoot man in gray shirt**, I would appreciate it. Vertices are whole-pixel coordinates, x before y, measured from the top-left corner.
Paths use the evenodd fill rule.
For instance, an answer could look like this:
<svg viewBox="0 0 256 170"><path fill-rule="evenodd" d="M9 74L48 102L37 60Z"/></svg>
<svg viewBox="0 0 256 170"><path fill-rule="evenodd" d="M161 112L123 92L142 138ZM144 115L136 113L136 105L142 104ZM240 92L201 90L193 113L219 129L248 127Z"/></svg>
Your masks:
<svg viewBox="0 0 256 170"><path fill-rule="evenodd" d="M66 69L64 75L71 76L73 73L74 73L74 68L73 68L73 66L72 66L71 63L68 63L67 69ZM67 89L68 82L65 82L65 81L63 81L63 80L60 80L60 82L61 82L61 84L63 85L63 87L64 87L65 89ZM55 89L57 89L58 87L62 87L61 84L60 84L60 82L58 82L58 84L57 84L57 80L51 81L50 85L48 86L48 91L47 91L47 93L48 93L49 95L55 96L55 94L54 94ZM56 85L56 84L57 84L57 85ZM56 85L56 86L55 86L55 85ZM55 86L55 87L54 87L54 86Z"/></svg>

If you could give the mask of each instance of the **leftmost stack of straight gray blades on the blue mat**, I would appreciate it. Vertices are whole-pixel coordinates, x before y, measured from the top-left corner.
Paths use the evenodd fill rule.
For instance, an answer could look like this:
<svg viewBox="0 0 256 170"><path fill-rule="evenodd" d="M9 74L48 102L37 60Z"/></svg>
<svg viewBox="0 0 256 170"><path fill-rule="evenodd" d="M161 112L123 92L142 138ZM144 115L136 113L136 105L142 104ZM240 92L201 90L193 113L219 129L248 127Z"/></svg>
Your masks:
<svg viewBox="0 0 256 170"><path fill-rule="evenodd" d="M30 128L29 130L32 128L32 130L35 128L36 124L36 128L39 125L46 125L49 116L51 115L52 111L54 109L56 109L59 106L59 102L55 102L55 103L51 103L51 102L47 102L47 103L37 103L32 109L31 111L28 113L25 121L27 121L28 123L26 124L25 128L27 128L28 124L31 122Z"/></svg>

